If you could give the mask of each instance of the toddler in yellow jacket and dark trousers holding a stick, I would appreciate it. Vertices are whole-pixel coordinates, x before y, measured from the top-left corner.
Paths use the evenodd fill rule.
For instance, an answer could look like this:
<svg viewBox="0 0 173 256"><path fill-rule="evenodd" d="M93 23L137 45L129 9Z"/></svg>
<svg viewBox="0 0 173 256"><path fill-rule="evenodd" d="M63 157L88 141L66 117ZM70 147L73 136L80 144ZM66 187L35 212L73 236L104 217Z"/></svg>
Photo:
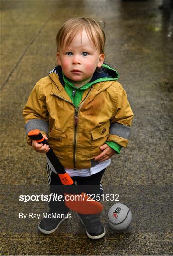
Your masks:
<svg viewBox="0 0 173 256"><path fill-rule="evenodd" d="M133 112L117 71L104 62L105 34L99 22L72 18L56 41L58 65L36 83L23 110L26 134L41 130L73 181L100 201L101 178L111 156L127 147ZM39 153L49 150L29 137L27 142ZM50 192L64 196L48 159L47 172ZM50 201L49 208L65 217L43 218L38 229L44 234L54 232L69 211L64 200ZM89 238L105 235L100 214L79 216Z"/></svg>

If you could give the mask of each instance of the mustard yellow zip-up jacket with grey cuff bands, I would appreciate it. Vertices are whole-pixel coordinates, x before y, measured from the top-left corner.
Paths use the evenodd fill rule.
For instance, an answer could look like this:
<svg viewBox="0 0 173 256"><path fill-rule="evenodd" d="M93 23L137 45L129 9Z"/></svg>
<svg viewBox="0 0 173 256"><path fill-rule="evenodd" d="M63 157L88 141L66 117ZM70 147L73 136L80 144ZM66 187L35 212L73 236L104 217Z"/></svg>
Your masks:
<svg viewBox="0 0 173 256"><path fill-rule="evenodd" d="M126 92L117 81L93 84L77 108L56 73L40 79L23 111L26 133L40 129L65 168L97 165L100 146L114 141L127 147L133 112ZM27 137L28 144L30 139Z"/></svg>

